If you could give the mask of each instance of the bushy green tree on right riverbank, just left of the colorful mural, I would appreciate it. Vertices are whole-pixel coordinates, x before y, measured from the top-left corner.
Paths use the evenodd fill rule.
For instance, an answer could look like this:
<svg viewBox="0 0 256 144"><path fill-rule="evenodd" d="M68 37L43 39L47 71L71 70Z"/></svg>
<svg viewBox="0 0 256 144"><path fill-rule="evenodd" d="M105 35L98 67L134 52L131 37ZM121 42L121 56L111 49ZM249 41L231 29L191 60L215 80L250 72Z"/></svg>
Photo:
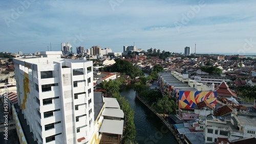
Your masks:
<svg viewBox="0 0 256 144"><path fill-rule="evenodd" d="M174 100L170 100L168 95L165 95L164 98L159 99L156 105L153 105L155 110L159 113L171 113L176 109L176 104Z"/></svg>

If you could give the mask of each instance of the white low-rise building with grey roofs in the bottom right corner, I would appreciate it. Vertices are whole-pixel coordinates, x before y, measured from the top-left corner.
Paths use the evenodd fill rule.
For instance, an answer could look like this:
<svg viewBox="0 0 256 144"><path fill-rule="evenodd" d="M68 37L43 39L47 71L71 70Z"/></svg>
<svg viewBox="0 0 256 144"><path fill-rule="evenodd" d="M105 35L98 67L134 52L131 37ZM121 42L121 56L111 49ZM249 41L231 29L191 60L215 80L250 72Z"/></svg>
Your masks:
<svg viewBox="0 0 256 144"><path fill-rule="evenodd" d="M228 138L229 141L256 136L255 117L231 115L231 119L206 118L205 142L216 142L218 137Z"/></svg>

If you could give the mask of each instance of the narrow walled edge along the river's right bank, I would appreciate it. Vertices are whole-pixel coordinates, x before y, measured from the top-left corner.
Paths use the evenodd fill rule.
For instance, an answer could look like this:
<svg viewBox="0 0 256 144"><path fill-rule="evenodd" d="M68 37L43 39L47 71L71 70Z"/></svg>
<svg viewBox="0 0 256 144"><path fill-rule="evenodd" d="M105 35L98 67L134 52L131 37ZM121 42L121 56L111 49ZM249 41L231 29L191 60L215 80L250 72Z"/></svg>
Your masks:
<svg viewBox="0 0 256 144"><path fill-rule="evenodd" d="M154 112L164 123L164 125L170 130L170 132L173 133L174 137L176 138L176 140L178 141L178 143L183 144L182 140L177 137L177 134L175 133L174 129L173 129L173 125L169 124L168 122L166 122L166 120L163 118L163 114L159 114L157 113L157 111L155 111L148 103L146 100L144 100L143 98L139 97L138 93L136 92L136 98L138 100L140 100L147 108L149 108L152 112Z"/></svg>

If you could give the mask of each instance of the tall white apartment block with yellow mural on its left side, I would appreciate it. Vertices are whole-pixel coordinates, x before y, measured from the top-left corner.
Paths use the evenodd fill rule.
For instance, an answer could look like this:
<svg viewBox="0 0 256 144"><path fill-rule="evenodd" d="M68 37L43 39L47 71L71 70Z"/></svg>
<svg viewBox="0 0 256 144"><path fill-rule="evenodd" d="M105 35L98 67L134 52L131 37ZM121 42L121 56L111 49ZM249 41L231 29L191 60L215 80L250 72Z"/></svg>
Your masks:
<svg viewBox="0 0 256 144"><path fill-rule="evenodd" d="M14 59L18 105L31 136L37 143L96 143L93 62L41 54Z"/></svg>

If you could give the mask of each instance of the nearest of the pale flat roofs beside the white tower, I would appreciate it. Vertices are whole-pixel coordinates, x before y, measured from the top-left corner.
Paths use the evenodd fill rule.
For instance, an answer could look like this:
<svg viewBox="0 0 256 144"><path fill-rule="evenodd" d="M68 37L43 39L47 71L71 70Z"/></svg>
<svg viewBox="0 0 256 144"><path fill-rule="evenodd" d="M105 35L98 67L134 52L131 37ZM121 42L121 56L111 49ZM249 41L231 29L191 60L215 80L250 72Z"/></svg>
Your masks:
<svg viewBox="0 0 256 144"><path fill-rule="evenodd" d="M123 120L104 119L99 132L111 134L123 134Z"/></svg>

